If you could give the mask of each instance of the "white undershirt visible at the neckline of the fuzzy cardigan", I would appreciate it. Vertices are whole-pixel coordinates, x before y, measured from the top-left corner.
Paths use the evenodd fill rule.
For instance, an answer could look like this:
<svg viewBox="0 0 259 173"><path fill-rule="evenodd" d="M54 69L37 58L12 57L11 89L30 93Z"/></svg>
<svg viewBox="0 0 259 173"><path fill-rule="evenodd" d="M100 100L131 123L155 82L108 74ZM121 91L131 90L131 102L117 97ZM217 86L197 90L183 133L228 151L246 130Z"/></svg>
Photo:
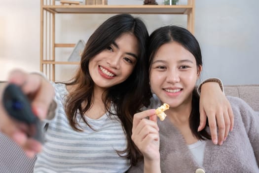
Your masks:
<svg viewBox="0 0 259 173"><path fill-rule="evenodd" d="M205 150L205 140L198 140L198 142L188 145L189 150L191 151L194 160L202 166L203 156Z"/></svg>

